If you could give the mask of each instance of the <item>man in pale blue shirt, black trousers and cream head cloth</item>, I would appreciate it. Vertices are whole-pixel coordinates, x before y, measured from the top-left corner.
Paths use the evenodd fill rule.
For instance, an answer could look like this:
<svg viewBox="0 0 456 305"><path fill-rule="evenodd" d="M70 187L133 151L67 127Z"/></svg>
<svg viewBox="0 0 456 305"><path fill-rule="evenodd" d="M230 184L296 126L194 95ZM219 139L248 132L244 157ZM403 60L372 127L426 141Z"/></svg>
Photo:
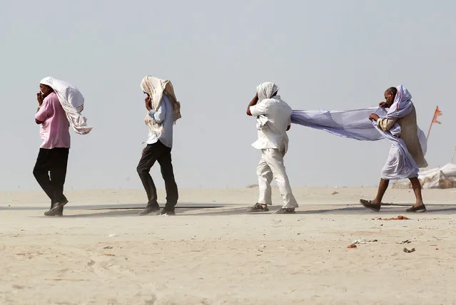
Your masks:
<svg viewBox="0 0 456 305"><path fill-rule="evenodd" d="M171 81L146 76L141 81L141 90L146 93L146 119L149 134L147 146L139 160L138 175L147 194L147 205L140 216L160 210L157 201L157 189L149 173L153 164L158 161L161 175L165 180L166 205L159 215L174 215L178 202L178 187L174 180L171 148L173 147L173 124L181 118L181 103L176 99Z"/></svg>

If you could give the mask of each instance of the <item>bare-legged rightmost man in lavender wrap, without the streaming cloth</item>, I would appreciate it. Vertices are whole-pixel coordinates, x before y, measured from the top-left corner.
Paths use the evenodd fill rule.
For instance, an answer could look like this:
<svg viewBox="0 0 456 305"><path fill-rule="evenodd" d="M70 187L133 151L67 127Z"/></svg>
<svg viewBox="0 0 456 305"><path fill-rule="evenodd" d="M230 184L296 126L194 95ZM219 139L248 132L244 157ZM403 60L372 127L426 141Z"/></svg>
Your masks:
<svg viewBox="0 0 456 305"><path fill-rule="evenodd" d="M416 197L415 205L407 209L407 212L426 211L422 201L420 180L417 177L419 167L427 167L427 162L418 138L417 116L411 98L412 95L404 86L388 88L385 91L385 102L380 103L380 107L387 108L385 116L380 118L375 113L369 116L370 120L375 121L380 132L390 133L396 138L382 169L377 196L374 200L360 200L364 207L375 212L380 211L382 198L390 180L405 178L412 182Z"/></svg>

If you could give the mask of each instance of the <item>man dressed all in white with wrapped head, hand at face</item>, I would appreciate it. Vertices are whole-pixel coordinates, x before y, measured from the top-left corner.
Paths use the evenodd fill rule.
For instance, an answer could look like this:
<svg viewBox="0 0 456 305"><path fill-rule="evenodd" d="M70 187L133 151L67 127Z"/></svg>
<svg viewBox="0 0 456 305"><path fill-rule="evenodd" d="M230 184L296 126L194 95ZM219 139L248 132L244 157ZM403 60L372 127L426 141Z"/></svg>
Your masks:
<svg viewBox="0 0 456 305"><path fill-rule="evenodd" d="M278 89L274 83L261 83L247 108L247 115L257 117L258 140L252 146L261 150L261 160L257 167L260 196L258 202L250 207L250 212L269 210L268 205L272 205L270 182L273 177L284 202L277 213L294 213L298 207L283 164L283 157L288 150L287 130L290 129L292 110L277 95Z"/></svg>

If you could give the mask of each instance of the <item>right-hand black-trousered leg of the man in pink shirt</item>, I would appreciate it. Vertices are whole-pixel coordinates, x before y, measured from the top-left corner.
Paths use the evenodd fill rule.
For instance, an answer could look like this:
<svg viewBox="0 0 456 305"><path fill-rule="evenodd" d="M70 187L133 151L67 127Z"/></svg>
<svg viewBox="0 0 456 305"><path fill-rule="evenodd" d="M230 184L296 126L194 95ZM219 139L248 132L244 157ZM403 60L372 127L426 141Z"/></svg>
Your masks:
<svg viewBox="0 0 456 305"><path fill-rule="evenodd" d="M49 176L54 189L54 203L66 205L68 200L64 195L66 168L68 166L69 148L54 148L52 152L54 165L51 166Z"/></svg>

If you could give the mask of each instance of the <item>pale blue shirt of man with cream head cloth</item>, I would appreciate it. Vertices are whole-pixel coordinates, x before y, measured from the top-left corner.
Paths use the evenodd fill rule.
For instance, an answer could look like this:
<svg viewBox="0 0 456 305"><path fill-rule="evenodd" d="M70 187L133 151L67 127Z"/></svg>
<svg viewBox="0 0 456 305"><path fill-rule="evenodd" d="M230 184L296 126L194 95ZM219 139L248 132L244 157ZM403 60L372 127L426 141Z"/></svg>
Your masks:
<svg viewBox="0 0 456 305"><path fill-rule="evenodd" d="M174 123L174 115L173 115L173 105L169 101L168 97L163 94L161 98L161 106L158 108L157 111L151 110L149 111L149 115L156 123L162 123L163 126L163 133L157 135L156 133L149 132L147 144L157 143L158 140L167 146L168 148L173 147L173 123Z"/></svg>

